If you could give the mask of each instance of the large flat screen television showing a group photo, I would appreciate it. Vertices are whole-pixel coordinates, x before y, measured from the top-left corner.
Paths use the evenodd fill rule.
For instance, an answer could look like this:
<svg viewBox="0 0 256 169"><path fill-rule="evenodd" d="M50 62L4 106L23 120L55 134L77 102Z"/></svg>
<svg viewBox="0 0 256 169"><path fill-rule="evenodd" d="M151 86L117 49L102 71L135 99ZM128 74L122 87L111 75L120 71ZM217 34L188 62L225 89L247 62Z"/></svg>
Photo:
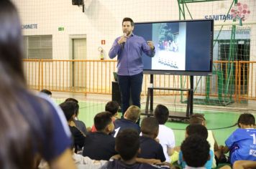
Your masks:
<svg viewBox="0 0 256 169"><path fill-rule="evenodd" d="M135 23L133 32L155 44L155 57L142 56L145 74L211 74L214 20Z"/></svg>

